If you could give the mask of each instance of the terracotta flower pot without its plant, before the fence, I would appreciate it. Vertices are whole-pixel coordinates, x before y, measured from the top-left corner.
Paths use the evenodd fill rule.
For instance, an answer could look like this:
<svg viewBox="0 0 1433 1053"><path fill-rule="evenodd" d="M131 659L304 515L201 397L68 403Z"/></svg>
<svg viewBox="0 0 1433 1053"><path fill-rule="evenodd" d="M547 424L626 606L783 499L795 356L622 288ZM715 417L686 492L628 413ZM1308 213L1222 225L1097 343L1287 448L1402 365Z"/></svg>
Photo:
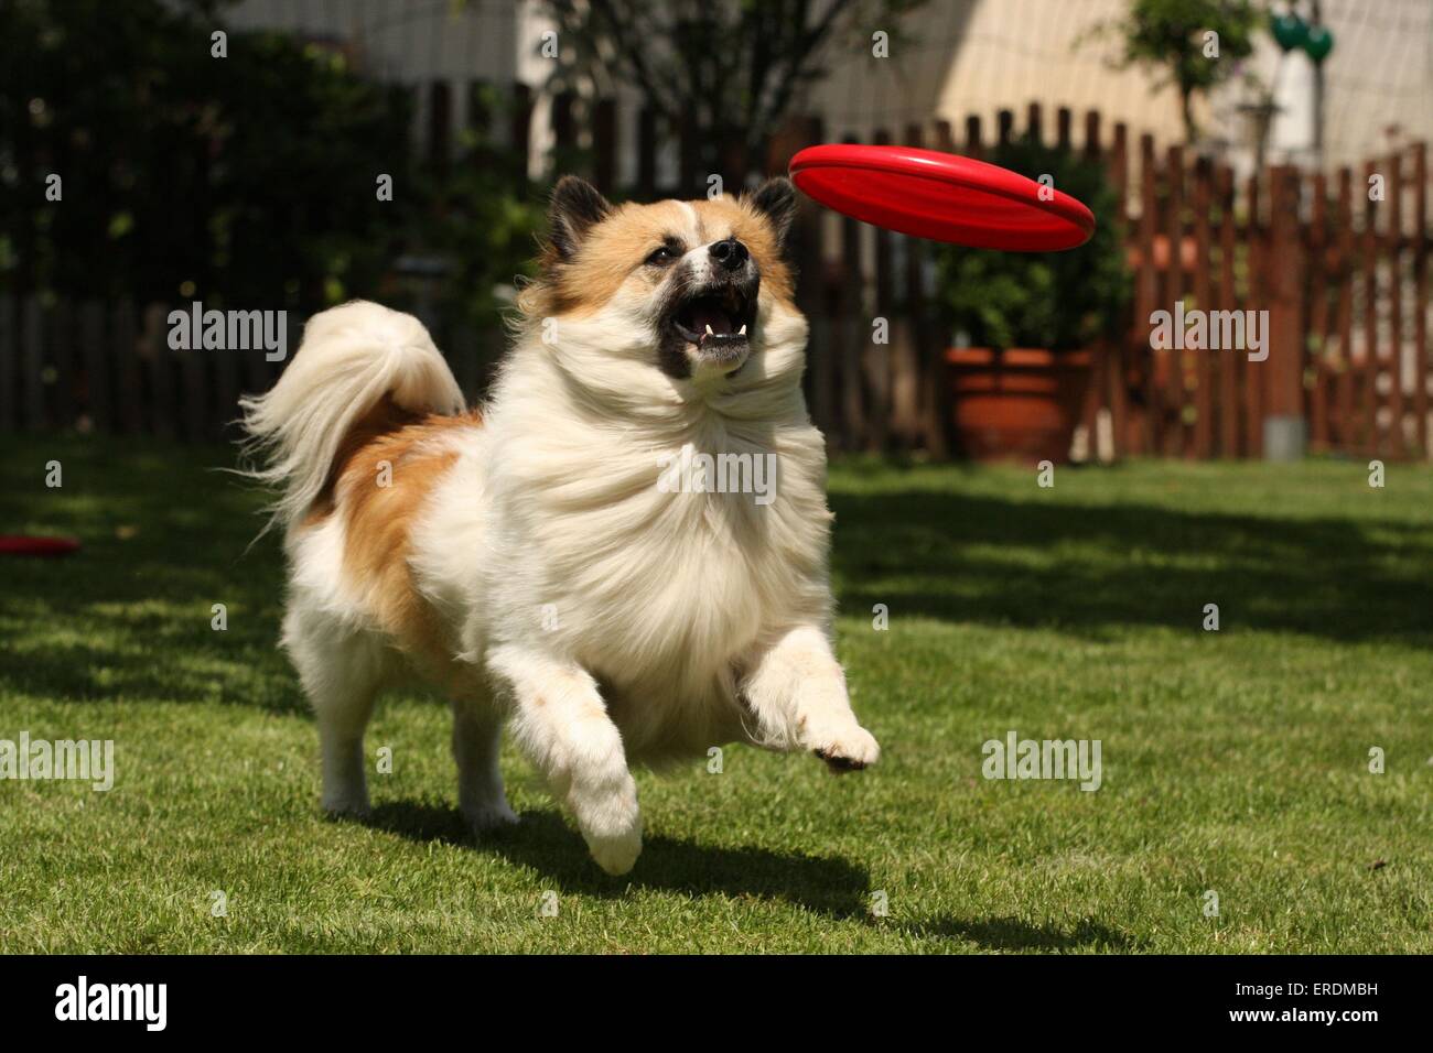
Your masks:
<svg viewBox="0 0 1433 1053"><path fill-rule="evenodd" d="M1069 460L1089 390L1089 351L957 347L946 351L960 450L977 461Z"/></svg>

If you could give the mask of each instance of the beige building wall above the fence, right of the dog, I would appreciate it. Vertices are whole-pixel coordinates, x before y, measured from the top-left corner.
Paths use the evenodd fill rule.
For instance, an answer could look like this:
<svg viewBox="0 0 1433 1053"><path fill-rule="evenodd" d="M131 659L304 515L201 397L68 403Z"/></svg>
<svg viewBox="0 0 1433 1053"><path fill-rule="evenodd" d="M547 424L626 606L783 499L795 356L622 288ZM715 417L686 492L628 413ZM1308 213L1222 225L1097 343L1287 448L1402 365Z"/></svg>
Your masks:
<svg viewBox="0 0 1433 1053"><path fill-rule="evenodd" d="M1079 44L1125 10L1126 0L930 0L896 27L863 27L860 49L833 49L831 76L808 106L831 138L867 139L877 128L898 135L937 117L959 128L970 113L993 126L1000 109L1023 122L1026 106L1039 102L1049 115L1059 106L1098 109L1106 128L1122 120L1132 139L1148 132L1161 146L1181 142L1174 87L1155 90L1139 69L1111 69L1109 43ZM1324 63L1326 163L1354 165L1396 140L1433 139L1433 0L1323 0L1323 20L1336 39ZM870 53L877 29L894 29L888 59ZM1283 106L1271 159L1311 160L1311 63L1303 53L1281 60L1267 33L1260 40L1245 66L1277 89ZM1230 86L1198 113L1240 166L1252 159L1244 107L1252 99L1242 85Z"/></svg>

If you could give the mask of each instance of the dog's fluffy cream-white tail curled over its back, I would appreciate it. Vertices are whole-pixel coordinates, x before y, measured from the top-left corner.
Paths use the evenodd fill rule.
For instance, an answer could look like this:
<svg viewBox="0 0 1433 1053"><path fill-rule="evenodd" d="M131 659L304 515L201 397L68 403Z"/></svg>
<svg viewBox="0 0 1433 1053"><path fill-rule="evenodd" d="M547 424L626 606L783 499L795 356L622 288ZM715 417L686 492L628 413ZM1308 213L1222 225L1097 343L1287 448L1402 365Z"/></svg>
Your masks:
<svg viewBox="0 0 1433 1053"><path fill-rule="evenodd" d="M463 411L463 393L417 318L355 299L314 315L278 383L239 400L245 471L275 487L269 526L292 526L320 497L344 436L387 395L416 414Z"/></svg>

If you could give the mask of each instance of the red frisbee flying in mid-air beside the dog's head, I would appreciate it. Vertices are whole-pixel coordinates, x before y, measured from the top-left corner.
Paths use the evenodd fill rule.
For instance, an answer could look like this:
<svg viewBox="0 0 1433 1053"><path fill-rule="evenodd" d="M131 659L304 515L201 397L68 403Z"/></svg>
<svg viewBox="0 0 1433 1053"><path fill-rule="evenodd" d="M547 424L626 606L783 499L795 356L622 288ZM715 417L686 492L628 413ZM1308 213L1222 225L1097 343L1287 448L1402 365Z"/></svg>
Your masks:
<svg viewBox="0 0 1433 1053"><path fill-rule="evenodd" d="M939 150L808 146L791 159L791 179L843 215L933 241L1052 252L1083 245L1095 234L1095 213L1068 193Z"/></svg>

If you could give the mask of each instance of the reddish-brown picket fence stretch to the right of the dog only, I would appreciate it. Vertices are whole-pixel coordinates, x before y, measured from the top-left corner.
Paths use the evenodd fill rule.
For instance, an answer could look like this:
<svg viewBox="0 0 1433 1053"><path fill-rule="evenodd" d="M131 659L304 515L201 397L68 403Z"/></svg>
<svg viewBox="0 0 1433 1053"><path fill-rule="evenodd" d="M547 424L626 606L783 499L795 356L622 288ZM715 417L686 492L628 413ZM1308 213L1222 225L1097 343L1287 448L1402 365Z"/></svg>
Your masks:
<svg viewBox="0 0 1433 1053"><path fill-rule="evenodd" d="M1076 446L1085 456L1260 457L1264 423L1303 418L1308 450L1389 458L1430 457L1427 146L1308 173L1268 168L1245 179L1185 148L1156 153L1125 125L1106 138L1098 112L1060 109L1055 145L1106 165L1125 202L1134 297L1122 340L1093 351L1093 381ZM995 139L1017 135L1000 112ZM1045 139L1037 105L1025 129ZM824 142L818 122L780 146L788 158ZM963 138L947 122L910 126L876 143L986 153L982 119ZM1134 153L1134 156L1132 156ZM950 332L930 305L924 245L838 221L825 245L820 218L805 228L802 307L813 322L813 414L851 450L950 451L944 352ZM828 225L828 223L827 223ZM1268 311L1268 358L1245 352L1155 350L1151 314L1187 308ZM888 344L871 321L891 319ZM959 450L956 450L959 453Z"/></svg>

